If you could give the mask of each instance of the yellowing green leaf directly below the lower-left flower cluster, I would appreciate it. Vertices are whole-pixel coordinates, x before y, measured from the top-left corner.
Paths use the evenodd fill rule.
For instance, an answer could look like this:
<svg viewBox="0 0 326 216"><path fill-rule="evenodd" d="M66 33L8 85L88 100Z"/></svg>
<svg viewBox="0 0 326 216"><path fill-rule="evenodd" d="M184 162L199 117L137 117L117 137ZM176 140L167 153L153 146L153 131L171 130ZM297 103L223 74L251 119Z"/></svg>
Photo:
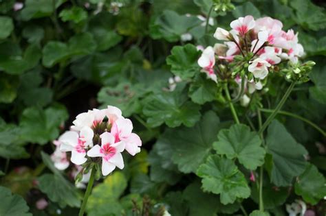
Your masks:
<svg viewBox="0 0 326 216"><path fill-rule="evenodd" d="M114 171L112 175L105 178L104 182L96 185L89 200L86 210L89 215L120 215L122 206L118 198L127 188L127 180L123 173Z"/></svg>

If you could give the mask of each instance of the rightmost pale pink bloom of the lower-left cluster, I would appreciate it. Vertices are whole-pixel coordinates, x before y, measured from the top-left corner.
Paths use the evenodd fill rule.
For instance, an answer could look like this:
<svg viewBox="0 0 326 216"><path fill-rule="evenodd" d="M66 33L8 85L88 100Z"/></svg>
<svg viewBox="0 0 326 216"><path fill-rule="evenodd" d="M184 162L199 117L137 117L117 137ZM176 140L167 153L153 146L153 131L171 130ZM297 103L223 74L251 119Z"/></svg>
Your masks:
<svg viewBox="0 0 326 216"><path fill-rule="evenodd" d="M137 134L132 132L132 130L133 123L130 121L130 119L124 119L121 117L113 122L111 134L114 136L115 143L122 141L127 152L134 156L140 152L142 141Z"/></svg>

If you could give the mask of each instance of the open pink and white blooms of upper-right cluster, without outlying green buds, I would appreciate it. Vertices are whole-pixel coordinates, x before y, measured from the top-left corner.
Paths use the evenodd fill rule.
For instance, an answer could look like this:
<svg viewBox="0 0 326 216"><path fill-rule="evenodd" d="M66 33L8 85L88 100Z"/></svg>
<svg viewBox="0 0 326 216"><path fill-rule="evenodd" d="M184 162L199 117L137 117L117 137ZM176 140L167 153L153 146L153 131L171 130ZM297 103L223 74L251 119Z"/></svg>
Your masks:
<svg viewBox="0 0 326 216"><path fill-rule="evenodd" d="M246 67L248 80L259 81L268 76L271 67L285 60L296 63L304 54L298 34L292 29L283 31L283 24L276 19L264 17L255 21L252 16L245 16L232 21L230 27L230 31L217 27L214 37L224 43L206 47L198 60L202 72L215 82L225 64L239 59L241 66Z"/></svg>

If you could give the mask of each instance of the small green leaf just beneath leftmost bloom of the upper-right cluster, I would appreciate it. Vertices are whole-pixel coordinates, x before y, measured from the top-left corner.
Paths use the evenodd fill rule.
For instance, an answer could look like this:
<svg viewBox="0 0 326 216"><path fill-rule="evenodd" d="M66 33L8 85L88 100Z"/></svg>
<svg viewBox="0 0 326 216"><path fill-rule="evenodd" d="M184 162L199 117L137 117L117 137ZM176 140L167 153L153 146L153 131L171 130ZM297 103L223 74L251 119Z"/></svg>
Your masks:
<svg viewBox="0 0 326 216"><path fill-rule="evenodd" d="M218 93L216 82L207 79L204 73L197 73L195 79L191 82L188 95L196 104L205 104L217 99Z"/></svg>

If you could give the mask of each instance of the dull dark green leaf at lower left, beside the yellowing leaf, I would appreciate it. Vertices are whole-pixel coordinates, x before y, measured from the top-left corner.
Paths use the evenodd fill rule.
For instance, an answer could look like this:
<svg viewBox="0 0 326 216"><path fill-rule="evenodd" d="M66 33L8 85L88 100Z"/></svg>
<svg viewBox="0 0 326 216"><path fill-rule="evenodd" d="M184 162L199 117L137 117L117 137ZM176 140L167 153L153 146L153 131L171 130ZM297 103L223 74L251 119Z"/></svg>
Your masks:
<svg viewBox="0 0 326 216"><path fill-rule="evenodd" d="M39 189L49 197L52 202L57 202L61 208L66 205L72 207L80 206L78 193L74 185L67 182L62 176L54 174L43 174L39 178Z"/></svg>

